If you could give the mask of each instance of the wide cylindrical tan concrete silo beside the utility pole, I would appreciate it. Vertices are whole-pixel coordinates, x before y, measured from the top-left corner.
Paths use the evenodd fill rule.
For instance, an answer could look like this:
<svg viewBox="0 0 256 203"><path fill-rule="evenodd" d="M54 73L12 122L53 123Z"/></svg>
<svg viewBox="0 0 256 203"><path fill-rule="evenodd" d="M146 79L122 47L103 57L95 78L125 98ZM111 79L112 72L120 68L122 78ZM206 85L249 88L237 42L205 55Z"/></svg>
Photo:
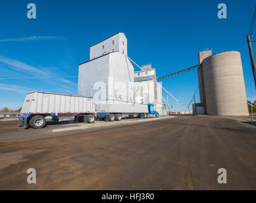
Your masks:
<svg viewBox="0 0 256 203"><path fill-rule="evenodd" d="M249 115L239 51L209 56L202 62L209 115Z"/></svg>

